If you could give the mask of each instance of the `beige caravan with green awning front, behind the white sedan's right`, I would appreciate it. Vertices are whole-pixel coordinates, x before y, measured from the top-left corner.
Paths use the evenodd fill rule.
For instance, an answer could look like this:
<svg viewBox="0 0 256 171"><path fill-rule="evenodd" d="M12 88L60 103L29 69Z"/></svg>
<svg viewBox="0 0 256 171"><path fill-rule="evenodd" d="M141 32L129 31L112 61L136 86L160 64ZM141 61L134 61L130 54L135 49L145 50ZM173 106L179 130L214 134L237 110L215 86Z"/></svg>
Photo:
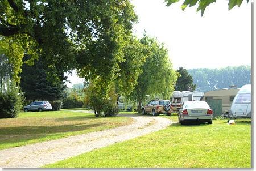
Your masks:
<svg viewBox="0 0 256 171"><path fill-rule="evenodd" d="M210 99L221 100L222 113L228 113L232 105L233 99L236 96L238 91L239 89L228 89L228 88L208 91L204 93L203 101L209 101Z"/></svg>

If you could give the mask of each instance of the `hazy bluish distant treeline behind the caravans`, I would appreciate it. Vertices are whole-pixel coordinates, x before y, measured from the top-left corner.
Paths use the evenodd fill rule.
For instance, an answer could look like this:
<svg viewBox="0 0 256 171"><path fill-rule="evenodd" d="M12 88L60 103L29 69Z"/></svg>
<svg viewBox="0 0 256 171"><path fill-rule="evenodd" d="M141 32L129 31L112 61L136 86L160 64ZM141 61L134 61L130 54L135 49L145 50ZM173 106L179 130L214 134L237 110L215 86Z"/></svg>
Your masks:
<svg viewBox="0 0 256 171"><path fill-rule="evenodd" d="M196 91L200 92L230 88L229 86L231 85L236 85L240 88L245 84L251 84L251 66L189 69L188 73L193 76L193 84L196 84Z"/></svg>

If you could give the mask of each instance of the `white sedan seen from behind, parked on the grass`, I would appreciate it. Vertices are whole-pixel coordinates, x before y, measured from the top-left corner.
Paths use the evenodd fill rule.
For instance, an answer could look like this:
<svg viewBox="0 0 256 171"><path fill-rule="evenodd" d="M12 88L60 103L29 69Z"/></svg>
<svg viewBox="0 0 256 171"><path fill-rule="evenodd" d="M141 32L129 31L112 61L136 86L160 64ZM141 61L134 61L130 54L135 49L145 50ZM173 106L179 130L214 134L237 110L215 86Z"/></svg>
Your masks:
<svg viewBox="0 0 256 171"><path fill-rule="evenodd" d="M181 125L188 121L208 122L212 124L213 111L205 101L185 101L179 109Z"/></svg>

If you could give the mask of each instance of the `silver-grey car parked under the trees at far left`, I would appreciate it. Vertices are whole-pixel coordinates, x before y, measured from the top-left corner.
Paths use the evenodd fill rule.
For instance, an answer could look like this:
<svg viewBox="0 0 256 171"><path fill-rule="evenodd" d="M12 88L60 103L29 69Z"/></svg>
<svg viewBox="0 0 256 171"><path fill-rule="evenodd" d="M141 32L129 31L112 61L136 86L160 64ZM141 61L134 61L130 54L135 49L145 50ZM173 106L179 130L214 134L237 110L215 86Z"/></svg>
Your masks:
<svg viewBox="0 0 256 171"><path fill-rule="evenodd" d="M52 105L48 101L34 101L30 105L24 106L24 112L52 110Z"/></svg>

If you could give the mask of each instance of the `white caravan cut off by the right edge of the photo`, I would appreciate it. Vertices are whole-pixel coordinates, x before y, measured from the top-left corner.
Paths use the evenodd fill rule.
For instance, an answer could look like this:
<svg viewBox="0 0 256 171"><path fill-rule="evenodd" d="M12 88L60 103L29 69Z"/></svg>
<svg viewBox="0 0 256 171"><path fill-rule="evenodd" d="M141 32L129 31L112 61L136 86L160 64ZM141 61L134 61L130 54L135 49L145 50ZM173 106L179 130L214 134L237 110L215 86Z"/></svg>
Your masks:
<svg viewBox="0 0 256 171"><path fill-rule="evenodd" d="M251 84L241 87L234 97L229 116L232 118L250 118L251 117Z"/></svg>

